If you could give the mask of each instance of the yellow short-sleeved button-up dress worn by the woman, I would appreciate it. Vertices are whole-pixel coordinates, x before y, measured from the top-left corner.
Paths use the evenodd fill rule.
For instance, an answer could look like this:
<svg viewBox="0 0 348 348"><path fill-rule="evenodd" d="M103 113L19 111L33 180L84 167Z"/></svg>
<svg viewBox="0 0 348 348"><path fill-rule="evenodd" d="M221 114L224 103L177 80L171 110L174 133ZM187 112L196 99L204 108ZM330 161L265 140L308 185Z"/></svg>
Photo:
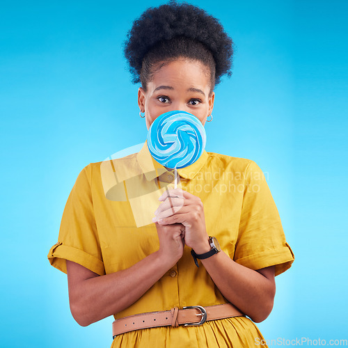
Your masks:
<svg viewBox="0 0 348 348"><path fill-rule="evenodd" d="M208 235L235 262L251 269L290 268L294 255L285 241L278 209L264 174L254 161L204 150L191 166L177 170L178 187L204 205ZM65 260L99 274L131 267L159 248L152 223L173 171L152 158L145 141L141 151L86 166L65 205L58 243L48 258L66 273ZM184 255L116 319L173 307L227 303L200 263ZM118 335L111 347L253 347L262 335L247 317L232 317L202 326L164 326Z"/></svg>

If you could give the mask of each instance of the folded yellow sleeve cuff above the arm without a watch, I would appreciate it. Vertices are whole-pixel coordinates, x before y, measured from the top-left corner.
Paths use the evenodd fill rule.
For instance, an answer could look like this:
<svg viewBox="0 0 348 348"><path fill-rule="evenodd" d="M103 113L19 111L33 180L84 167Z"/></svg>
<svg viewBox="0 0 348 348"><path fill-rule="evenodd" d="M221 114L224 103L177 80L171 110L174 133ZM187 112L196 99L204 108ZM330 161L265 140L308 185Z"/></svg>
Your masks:
<svg viewBox="0 0 348 348"><path fill-rule="evenodd" d="M96 274L103 276L105 274L104 263L102 260L95 258L95 256L81 251L80 249L66 246L62 242L58 242L52 246L47 255L49 263L60 271L67 273L66 262L69 260L81 264L81 266L90 269Z"/></svg>

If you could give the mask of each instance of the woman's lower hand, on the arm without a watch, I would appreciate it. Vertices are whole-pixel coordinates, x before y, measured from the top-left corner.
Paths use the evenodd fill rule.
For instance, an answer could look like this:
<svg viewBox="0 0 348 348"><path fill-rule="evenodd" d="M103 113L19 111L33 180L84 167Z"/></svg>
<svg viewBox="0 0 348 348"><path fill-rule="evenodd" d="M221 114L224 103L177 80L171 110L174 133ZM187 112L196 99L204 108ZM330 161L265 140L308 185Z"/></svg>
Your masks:
<svg viewBox="0 0 348 348"><path fill-rule="evenodd" d="M155 223L159 238L159 255L164 262L168 262L168 269L182 258L184 252L184 226L182 223L159 225Z"/></svg>

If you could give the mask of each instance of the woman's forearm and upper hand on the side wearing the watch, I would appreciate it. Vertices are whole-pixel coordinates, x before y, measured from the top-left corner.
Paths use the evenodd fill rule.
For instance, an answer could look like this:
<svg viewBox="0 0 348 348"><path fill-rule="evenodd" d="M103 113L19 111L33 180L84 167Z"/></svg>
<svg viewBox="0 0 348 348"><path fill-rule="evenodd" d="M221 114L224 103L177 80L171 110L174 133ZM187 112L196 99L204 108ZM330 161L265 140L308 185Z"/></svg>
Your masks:
<svg viewBox="0 0 348 348"><path fill-rule="evenodd" d="M159 198L164 202L159 205L152 221L164 225L182 223L185 226L184 241L187 246L193 248L197 254L206 253L210 246L200 198L182 189L169 192L164 192ZM168 195L177 198L168 198ZM230 303L254 322L262 322L268 317L276 293L274 267L254 271L237 264L223 251L200 261Z"/></svg>

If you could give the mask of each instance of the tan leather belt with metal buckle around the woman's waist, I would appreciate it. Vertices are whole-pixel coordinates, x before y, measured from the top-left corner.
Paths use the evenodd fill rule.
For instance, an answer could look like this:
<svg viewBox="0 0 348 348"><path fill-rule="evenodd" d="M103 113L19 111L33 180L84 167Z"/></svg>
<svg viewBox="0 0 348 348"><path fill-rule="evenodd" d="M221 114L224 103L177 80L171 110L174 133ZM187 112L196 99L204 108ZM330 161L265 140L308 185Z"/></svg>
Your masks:
<svg viewBox="0 0 348 348"><path fill-rule="evenodd" d="M162 312L141 313L116 319L112 323L113 338L120 333L133 330L148 329L157 326L198 326L207 320L225 319L244 316L231 303L216 306L188 306L182 309L177 307Z"/></svg>

